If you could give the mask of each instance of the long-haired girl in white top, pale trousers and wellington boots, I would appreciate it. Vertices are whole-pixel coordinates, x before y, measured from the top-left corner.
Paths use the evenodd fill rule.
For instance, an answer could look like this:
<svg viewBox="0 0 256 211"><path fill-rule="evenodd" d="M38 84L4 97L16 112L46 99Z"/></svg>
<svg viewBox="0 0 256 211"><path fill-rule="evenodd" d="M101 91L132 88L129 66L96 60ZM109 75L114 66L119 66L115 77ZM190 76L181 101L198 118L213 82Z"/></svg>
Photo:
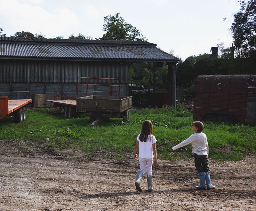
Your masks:
<svg viewBox="0 0 256 211"><path fill-rule="evenodd" d="M142 123L141 132L137 137L137 142L134 148L133 158L137 158L137 150L139 149L140 155L140 171L137 172L137 179L135 182L136 190L142 191L140 181L143 174L147 172L148 191L153 191L152 188L152 164L153 158L154 165L157 164L156 154L156 137L153 136L153 125L150 120L145 120Z"/></svg>

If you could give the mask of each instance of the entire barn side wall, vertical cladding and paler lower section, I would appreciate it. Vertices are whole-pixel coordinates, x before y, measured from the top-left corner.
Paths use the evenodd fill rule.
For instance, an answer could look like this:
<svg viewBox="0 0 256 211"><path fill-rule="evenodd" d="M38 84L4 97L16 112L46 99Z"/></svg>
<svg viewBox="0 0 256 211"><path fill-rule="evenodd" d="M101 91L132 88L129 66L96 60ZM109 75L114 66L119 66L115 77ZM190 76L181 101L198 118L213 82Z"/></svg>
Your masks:
<svg viewBox="0 0 256 211"><path fill-rule="evenodd" d="M51 95L76 95L77 77L120 78L120 95L126 96L129 81L129 63L120 62L81 62L81 61L32 61L4 60L0 62L0 92L29 91L29 96L37 93ZM83 79L79 79L82 82ZM112 81L112 83L116 83ZM108 84L108 80L93 80L90 83ZM14 87L14 88L12 88ZM17 88L16 88L17 87ZM28 87L28 89L25 89ZM84 89L85 87L79 87ZM92 91L106 91L105 86L90 86ZM111 87L111 91L117 91ZM88 92L88 95L108 93ZM0 93L0 96L6 94ZM25 95L25 93L24 93ZM85 96L85 93L79 93ZM116 94L113 94L116 95Z"/></svg>

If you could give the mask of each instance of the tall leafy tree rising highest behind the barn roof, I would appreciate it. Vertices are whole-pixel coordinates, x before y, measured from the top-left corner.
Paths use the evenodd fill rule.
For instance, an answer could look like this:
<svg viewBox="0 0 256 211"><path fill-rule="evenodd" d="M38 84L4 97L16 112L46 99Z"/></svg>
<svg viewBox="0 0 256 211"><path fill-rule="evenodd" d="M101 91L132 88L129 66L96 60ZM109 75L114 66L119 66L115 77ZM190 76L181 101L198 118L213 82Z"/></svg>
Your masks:
<svg viewBox="0 0 256 211"><path fill-rule="evenodd" d="M100 40L140 40L147 41L140 31L131 24L124 22L124 19L116 13L114 16L104 17L103 31L105 32Z"/></svg>

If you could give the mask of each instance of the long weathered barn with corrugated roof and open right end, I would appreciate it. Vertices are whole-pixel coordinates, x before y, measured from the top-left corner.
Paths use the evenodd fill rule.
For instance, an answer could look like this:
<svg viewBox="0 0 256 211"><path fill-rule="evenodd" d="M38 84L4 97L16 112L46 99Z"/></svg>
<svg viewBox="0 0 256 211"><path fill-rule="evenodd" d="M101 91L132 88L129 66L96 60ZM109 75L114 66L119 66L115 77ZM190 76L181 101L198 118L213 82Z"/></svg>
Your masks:
<svg viewBox="0 0 256 211"><path fill-rule="evenodd" d="M127 96L132 63L153 62L155 72L165 62L166 104L173 105L178 61L156 44L142 41L0 37L0 96ZM91 86L82 86L86 82Z"/></svg>

